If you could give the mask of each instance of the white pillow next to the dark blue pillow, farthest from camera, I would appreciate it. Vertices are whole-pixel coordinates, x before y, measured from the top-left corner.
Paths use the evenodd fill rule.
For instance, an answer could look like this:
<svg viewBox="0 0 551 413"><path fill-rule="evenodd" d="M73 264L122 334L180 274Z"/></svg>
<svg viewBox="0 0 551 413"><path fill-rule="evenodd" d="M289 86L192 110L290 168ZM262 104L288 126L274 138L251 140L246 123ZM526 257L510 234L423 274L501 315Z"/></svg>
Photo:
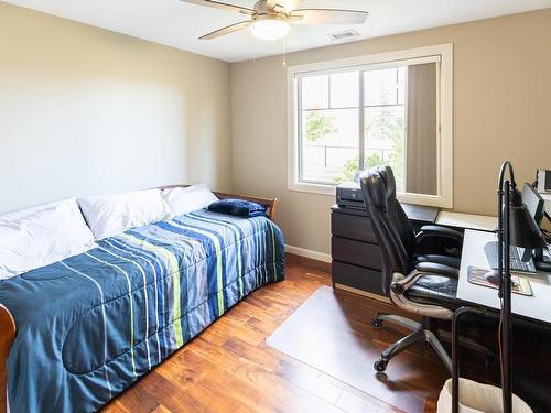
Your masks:
<svg viewBox="0 0 551 413"><path fill-rule="evenodd" d="M203 209L218 200L205 184L164 189L163 198L174 216Z"/></svg>

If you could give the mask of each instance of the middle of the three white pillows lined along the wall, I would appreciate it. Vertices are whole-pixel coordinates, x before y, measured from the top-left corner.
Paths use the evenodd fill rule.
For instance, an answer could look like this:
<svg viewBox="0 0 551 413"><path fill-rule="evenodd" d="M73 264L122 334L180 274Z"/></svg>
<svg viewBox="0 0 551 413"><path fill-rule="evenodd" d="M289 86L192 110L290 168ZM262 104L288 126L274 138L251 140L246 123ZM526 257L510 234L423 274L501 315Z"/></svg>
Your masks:
<svg viewBox="0 0 551 413"><path fill-rule="evenodd" d="M90 196L79 198L78 205L96 239L170 217L170 209L159 189Z"/></svg>

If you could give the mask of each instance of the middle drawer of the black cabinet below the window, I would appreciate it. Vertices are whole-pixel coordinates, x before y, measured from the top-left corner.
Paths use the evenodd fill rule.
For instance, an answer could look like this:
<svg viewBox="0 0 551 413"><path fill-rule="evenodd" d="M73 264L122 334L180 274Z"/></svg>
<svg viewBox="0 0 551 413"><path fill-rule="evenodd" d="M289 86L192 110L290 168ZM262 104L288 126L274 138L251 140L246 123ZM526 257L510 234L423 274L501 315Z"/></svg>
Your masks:
<svg viewBox="0 0 551 413"><path fill-rule="evenodd" d="M331 256L334 260L349 262L352 264L361 267L368 267L374 270L382 269L382 257L380 248L375 243L332 237L331 248Z"/></svg>

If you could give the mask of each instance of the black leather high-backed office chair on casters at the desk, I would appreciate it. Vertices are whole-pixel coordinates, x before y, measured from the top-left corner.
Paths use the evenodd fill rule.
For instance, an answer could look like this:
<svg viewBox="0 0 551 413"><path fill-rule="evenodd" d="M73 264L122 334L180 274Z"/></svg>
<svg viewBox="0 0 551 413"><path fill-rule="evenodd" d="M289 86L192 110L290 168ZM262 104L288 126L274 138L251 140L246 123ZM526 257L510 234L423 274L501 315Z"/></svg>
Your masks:
<svg viewBox="0 0 551 413"><path fill-rule="evenodd" d="M429 237L461 242L463 235L439 226L425 226L415 233L396 199L396 182L389 166L364 172L360 175L360 184L364 202L382 252L382 290L399 307L423 316L422 322L418 323L398 315L377 314L371 320L371 326L381 327L382 322L391 322L412 333L382 351L380 360L374 367L379 372L385 371L392 357L424 340L434 348L451 371L450 356L439 340L439 337L450 339L450 334L435 329L432 319L451 320L453 311L460 306L456 298L460 258L419 254L417 251ZM486 361L491 362L494 355L486 347L466 337L462 337L461 343L484 352Z"/></svg>

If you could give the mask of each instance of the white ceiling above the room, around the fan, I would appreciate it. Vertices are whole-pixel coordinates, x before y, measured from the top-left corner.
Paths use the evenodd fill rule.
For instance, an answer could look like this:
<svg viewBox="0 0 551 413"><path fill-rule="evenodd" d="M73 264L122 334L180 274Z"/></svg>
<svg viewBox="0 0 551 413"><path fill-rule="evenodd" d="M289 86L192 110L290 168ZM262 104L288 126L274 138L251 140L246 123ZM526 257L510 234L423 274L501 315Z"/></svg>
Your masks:
<svg viewBox="0 0 551 413"><path fill-rule="evenodd" d="M252 7L255 0L218 0ZM298 1L298 0L283 0ZM180 0L7 0L7 2L98 28L145 39L227 62L247 61L283 52L281 42L256 40L246 30L225 37L199 41L198 36L245 20L223 10ZM299 44L288 52L333 44L327 37L355 29L360 37L414 30L551 8L551 0L303 0L302 8L343 8L369 11L364 25L295 26Z"/></svg>

